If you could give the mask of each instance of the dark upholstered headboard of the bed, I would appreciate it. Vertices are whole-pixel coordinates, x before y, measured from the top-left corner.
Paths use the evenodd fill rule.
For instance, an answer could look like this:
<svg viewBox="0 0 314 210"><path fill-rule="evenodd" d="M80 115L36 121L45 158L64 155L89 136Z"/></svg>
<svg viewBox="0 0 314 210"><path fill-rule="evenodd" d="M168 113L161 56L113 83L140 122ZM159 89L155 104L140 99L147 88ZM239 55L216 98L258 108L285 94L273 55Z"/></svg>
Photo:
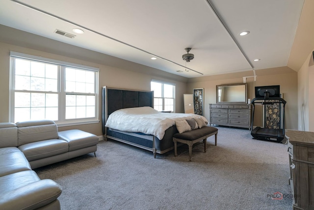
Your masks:
<svg viewBox="0 0 314 210"><path fill-rule="evenodd" d="M108 116L118 109L150 106L154 108L154 91L123 90L103 87L102 122L105 134L105 122Z"/></svg>

